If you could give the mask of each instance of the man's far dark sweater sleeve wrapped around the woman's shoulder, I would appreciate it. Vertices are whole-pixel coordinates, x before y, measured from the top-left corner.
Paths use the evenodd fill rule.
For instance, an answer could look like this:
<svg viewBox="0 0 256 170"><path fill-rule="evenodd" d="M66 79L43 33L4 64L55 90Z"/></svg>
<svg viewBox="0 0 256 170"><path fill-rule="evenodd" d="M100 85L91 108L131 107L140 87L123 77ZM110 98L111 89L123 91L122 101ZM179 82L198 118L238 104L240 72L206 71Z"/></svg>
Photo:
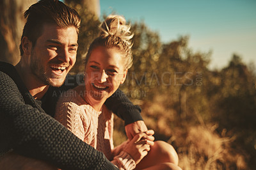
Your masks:
<svg viewBox="0 0 256 170"><path fill-rule="evenodd" d="M140 114L141 108L138 105L133 105L120 89L117 89L105 104L109 110L125 121L125 125L143 120Z"/></svg>

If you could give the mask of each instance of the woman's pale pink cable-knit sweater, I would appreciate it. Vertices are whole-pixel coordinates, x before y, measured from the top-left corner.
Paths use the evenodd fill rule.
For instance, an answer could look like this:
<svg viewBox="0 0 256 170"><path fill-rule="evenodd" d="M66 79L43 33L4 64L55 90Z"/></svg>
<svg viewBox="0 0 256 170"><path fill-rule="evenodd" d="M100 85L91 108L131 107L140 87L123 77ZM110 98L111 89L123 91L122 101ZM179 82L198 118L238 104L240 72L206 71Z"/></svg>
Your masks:
<svg viewBox="0 0 256 170"><path fill-rule="evenodd" d="M82 89L82 90L81 90ZM134 169L136 164L125 151L112 152L113 114L103 105L95 111L82 97L83 86L70 89L60 98L56 107L56 120L93 148L102 151L120 169Z"/></svg>

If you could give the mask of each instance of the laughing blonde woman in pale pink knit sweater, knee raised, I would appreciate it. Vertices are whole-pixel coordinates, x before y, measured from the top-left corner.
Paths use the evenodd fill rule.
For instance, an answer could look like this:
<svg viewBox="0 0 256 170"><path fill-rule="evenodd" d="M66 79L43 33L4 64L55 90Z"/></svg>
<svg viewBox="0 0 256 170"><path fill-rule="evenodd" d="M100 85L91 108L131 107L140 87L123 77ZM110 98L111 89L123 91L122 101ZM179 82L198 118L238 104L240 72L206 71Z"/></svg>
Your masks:
<svg viewBox="0 0 256 170"><path fill-rule="evenodd" d="M153 130L113 147L113 114L104 102L124 83L132 65L129 29L119 15L109 15L102 23L86 55L84 86L60 98L56 120L120 169L179 169L177 153L170 144L154 142Z"/></svg>

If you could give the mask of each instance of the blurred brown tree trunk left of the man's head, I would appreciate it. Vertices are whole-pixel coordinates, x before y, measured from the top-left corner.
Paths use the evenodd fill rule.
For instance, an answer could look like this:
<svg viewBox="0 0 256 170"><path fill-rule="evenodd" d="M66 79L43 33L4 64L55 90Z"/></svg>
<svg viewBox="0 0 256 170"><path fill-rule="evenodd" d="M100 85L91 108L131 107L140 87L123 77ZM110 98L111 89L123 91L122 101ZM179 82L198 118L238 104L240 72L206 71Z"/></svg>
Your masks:
<svg viewBox="0 0 256 170"><path fill-rule="evenodd" d="M19 45L25 24L24 11L36 0L0 1L0 61L13 65L20 59Z"/></svg>

